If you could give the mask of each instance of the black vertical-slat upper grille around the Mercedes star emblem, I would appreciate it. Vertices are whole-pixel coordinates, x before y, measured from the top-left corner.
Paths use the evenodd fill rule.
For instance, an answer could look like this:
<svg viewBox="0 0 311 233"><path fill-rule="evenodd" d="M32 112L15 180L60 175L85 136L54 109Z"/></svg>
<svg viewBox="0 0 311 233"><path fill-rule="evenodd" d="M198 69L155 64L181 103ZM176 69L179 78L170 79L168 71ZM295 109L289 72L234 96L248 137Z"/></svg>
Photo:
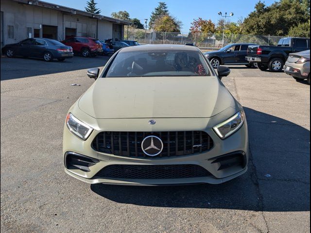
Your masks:
<svg viewBox="0 0 311 233"><path fill-rule="evenodd" d="M141 142L147 136L155 135L163 142L162 152L155 157L189 155L210 150L214 143L203 131L179 132L101 132L92 142L98 152L127 157L146 157Z"/></svg>

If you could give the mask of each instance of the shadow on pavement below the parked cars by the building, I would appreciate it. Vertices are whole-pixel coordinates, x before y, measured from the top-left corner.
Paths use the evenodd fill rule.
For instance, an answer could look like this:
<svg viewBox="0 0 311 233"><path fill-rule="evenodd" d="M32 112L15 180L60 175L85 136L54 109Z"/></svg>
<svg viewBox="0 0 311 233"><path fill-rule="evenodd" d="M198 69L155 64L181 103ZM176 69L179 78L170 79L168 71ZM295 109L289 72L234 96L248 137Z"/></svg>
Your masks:
<svg viewBox="0 0 311 233"><path fill-rule="evenodd" d="M103 67L110 56L98 55L96 57L74 56L63 62L54 60L45 62L43 59L35 58L1 58L1 81L19 79L38 75L67 72L93 67Z"/></svg>

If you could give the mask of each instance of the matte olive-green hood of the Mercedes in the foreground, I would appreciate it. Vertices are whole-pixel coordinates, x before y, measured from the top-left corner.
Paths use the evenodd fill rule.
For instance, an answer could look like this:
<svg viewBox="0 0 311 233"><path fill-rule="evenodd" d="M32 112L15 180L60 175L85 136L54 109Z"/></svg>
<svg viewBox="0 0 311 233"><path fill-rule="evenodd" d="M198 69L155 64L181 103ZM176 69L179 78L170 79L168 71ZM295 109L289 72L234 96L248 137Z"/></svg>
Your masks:
<svg viewBox="0 0 311 233"><path fill-rule="evenodd" d="M215 76L99 78L80 98L89 116L106 118L211 117L233 102Z"/></svg>

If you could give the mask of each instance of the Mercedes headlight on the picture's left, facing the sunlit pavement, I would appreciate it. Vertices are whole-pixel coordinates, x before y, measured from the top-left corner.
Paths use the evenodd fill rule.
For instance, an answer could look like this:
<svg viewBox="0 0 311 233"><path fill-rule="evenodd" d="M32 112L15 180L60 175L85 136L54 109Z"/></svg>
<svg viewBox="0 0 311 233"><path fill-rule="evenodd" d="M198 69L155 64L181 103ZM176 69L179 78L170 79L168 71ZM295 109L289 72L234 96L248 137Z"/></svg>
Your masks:
<svg viewBox="0 0 311 233"><path fill-rule="evenodd" d="M77 119L71 113L67 114L66 125L71 133L80 137L82 140L86 140L93 131L91 127Z"/></svg>

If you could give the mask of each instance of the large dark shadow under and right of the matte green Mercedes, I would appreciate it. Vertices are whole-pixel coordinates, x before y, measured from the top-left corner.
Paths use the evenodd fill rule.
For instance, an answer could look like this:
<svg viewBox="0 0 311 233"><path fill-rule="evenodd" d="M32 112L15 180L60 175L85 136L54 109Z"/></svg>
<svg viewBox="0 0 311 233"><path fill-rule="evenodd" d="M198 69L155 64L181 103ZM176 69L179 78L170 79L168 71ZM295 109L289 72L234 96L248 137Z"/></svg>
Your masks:
<svg viewBox="0 0 311 233"><path fill-rule="evenodd" d="M250 134L247 173L219 184L118 186L92 184L120 203L178 208L310 211L310 131L276 116L244 108ZM265 174L271 175L270 178Z"/></svg>

